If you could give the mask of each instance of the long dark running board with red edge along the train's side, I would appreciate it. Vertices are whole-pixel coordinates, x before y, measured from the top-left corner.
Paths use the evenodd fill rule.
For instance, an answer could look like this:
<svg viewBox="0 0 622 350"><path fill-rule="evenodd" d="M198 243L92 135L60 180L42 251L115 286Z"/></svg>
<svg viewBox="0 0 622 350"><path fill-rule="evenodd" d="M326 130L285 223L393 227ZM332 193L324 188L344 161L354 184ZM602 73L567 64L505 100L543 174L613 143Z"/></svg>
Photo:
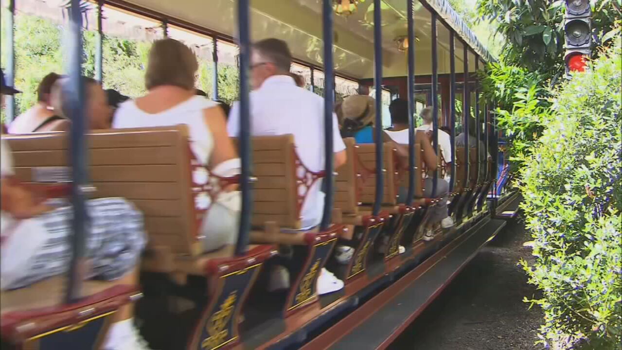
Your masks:
<svg viewBox="0 0 622 350"><path fill-rule="evenodd" d="M505 225L483 219L302 349L388 348Z"/></svg>

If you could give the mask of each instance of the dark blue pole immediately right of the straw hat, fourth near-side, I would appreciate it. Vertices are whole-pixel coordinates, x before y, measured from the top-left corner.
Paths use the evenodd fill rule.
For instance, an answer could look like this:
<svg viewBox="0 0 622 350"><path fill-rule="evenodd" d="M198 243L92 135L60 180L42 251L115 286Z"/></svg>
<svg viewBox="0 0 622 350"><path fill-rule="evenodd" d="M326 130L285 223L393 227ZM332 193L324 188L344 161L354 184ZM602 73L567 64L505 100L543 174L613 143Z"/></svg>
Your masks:
<svg viewBox="0 0 622 350"><path fill-rule="evenodd" d="M380 213L384 197L384 163L383 163L383 29L381 16L381 0L374 0L374 88L376 88L376 121L374 136L376 137L376 198L373 215Z"/></svg>

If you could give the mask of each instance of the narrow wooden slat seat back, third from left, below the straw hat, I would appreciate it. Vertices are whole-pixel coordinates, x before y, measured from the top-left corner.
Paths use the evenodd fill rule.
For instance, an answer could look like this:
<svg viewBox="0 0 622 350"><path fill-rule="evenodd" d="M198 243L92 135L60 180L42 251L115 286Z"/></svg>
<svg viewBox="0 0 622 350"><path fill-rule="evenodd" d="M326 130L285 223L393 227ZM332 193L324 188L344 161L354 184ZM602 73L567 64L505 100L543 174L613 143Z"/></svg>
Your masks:
<svg viewBox="0 0 622 350"><path fill-rule="evenodd" d="M335 208L343 214L358 214L360 182L356 173L356 142L353 137L343 139L346 145L346 163L337 169L335 178Z"/></svg>

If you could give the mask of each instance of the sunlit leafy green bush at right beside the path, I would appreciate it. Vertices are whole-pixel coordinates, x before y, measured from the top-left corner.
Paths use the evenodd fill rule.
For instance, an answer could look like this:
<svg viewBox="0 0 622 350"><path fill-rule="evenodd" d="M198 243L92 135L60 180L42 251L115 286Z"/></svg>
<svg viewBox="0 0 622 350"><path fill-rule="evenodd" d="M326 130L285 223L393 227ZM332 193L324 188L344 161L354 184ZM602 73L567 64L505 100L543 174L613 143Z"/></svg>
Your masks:
<svg viewBox="0 0 622 350"><path fill-rule="evenodd" d="M622 55L603 51L554 91L518 186L542 292L541 343L619 349L622 342Z"/></svg>

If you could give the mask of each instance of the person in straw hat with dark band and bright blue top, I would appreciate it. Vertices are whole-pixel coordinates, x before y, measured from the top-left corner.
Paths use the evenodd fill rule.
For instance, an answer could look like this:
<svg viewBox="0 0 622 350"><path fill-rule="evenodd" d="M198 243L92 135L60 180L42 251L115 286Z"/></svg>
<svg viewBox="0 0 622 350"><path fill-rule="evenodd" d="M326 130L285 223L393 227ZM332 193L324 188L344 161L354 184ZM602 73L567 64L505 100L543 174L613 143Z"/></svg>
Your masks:
<svg viewBox="0 0 622 350"><path fill-rule="evenodd" d="M374 143L375 100L370 96L355 94L341 102L343 127L341 136L354 137L357 144Z"/></svg>

